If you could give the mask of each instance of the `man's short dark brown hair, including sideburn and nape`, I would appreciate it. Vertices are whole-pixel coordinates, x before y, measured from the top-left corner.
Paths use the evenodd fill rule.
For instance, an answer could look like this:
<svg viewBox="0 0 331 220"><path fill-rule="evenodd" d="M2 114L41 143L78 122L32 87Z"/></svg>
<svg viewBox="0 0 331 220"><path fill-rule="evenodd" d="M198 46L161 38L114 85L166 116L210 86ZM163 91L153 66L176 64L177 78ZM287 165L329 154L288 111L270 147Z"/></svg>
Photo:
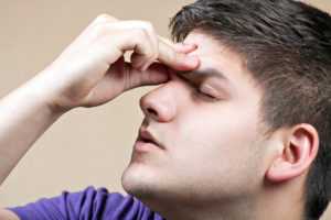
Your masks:
<svg viewBox="0 0 331 220"><path fill-rule="evenodd" d="M180 10L170 28L178 42L197 30L242 55L264 90L267 133L298 123L317 129L305 217L319 219L331 184L331 16L291 0L199 0Z"/></svg>

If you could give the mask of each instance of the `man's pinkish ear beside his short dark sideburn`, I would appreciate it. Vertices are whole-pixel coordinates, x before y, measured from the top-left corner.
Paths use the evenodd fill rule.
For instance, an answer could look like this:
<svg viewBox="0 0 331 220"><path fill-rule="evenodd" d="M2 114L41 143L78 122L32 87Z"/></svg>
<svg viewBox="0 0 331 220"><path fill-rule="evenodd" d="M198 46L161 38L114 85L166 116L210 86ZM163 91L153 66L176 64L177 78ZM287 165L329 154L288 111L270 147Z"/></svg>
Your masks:
<svg viewBox="0 0 331 220"><path fill-rule="evenodd" d="M317 156L319 135L310 124L297 124L282 135L282 151L274 158L266 173L271 183L292 179L306 170Z"/></svg>

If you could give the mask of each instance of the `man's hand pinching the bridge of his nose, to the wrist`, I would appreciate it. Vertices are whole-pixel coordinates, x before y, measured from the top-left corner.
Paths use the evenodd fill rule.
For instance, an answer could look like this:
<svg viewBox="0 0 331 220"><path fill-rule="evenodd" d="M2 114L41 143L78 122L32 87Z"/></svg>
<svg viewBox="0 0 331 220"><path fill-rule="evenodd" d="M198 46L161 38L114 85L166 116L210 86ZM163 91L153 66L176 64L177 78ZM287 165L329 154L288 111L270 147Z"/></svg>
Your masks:
<svg viewBox="0 0 331 220"><path fill-rule="evenodd" d="M194 45L167 42L148 22L103 14L36 78L56 111L95 107L128 89L164 82L166 66L196 68L199 59L188 55L194 50ZM132 52L130 63L125 62L126 52Z"/></svg>

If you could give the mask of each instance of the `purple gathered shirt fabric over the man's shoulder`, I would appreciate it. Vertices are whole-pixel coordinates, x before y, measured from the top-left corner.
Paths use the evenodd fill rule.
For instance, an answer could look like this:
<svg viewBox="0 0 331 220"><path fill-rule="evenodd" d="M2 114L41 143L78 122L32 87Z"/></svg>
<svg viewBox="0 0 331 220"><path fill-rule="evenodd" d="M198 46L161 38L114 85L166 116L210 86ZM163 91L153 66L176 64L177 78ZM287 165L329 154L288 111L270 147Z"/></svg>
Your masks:
<svg viewBox="0 0 331 220"><path fill-rule="evenodd" d="M9 210L20 220L164 220L132 196L94 187Z"/></svg>

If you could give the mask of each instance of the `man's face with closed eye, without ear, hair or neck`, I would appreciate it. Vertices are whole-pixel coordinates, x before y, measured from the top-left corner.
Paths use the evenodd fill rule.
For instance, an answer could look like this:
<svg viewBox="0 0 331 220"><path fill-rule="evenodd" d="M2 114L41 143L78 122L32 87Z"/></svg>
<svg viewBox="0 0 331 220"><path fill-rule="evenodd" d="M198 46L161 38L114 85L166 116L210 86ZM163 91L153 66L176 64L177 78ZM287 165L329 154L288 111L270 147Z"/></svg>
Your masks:
<svg viewBox="0 0 331 220"><path fill-rule="evenodd" d="M197 32L185 43L199 46L192 54L201 65L171 73L141 98L143 127L164 148L134 150L124 188L146 200L192 204L255 195L266 170L261 91L237 54Z"/></svg>

